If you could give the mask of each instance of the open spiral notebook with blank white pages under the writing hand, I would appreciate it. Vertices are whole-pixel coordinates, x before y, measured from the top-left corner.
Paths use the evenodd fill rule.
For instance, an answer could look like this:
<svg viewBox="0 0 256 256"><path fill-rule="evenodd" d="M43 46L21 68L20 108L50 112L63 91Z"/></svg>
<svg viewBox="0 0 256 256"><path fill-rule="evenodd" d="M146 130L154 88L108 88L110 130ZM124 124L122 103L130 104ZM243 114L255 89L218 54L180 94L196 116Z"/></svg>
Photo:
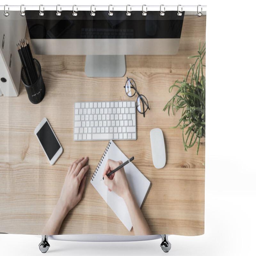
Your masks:
<svg viewBox="0 0 256 256"><path fill-rule="evenodd" d="M128 158L116 146L116 144L112 140L110 140L94 174L92 175L91 183L92 186L98 191L100 196L108 204L108 206L112 209L112 211L115 212L119 220L121 220L124 226L129 231L131 231L132 221L124 199L120 196L117 196L115 192L108 191L108 187L104 184L104 181L101 180L103 170L108 159L112 159L115 161L121 160L123 162L128 160ZM129 185L133 191L133 194L137 200L137 203L141 207L150 189L150 181L139 171L139 169L132 162L124 166L124 171Z"/></svg>

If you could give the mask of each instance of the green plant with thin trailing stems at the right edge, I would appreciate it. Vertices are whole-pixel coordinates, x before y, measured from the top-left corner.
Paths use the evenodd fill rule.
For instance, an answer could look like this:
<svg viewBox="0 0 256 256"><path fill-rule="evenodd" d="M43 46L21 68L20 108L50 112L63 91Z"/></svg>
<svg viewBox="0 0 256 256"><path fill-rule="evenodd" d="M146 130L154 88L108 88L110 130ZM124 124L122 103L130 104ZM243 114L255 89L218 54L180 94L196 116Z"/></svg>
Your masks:
<svg viewBox="0 0 256 256"><path fill-rule="evenodd" d="M164 107L164 111L168 108L168 115L170 115L171 107L173 115L174 108L176 112L182 109L179 123L171 128L180 126L185 151L193 147L197 141L196 154L198 154L200 140L202 141L205 138L205 76L203 73L205 67L203 65L205 43L201 47L199 41L199 50L197 52L197 55L188 57L189 59L196 58L196 60L193 65L190 64L186 78L184 76L182 82L176 80L169 88L169 92L172 92L174 87L178 88L178 90Z"/></svg>

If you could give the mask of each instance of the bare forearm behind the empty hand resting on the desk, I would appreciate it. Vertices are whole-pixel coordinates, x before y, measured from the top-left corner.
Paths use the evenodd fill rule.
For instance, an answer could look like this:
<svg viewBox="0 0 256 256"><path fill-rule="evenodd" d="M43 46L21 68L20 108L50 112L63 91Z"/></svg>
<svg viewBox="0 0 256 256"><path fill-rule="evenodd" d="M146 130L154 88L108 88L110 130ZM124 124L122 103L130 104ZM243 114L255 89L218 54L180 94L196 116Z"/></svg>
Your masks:
<svg viewBox="0 0 256 256"><path fill-rule="evenodd" d="M68 214L68 210L58 202L52 212L51 217L47 221L41 235L58 235L61 224Z"/></svg>

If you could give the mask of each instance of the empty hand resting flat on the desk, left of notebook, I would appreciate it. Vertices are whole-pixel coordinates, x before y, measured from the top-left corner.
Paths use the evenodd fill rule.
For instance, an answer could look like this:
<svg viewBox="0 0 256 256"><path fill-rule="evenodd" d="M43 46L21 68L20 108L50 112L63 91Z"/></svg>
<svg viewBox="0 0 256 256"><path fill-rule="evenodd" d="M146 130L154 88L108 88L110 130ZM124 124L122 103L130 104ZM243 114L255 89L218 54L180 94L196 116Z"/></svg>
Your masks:
<svg viewBox="0 0 256 256"><path fill-rule="evenodd" d="M82 198L86 180L85 174L90 167L88 164L86 165L87 161L87 156L82 157L69 166L58 202L67 212L73 209Z"/></svg>

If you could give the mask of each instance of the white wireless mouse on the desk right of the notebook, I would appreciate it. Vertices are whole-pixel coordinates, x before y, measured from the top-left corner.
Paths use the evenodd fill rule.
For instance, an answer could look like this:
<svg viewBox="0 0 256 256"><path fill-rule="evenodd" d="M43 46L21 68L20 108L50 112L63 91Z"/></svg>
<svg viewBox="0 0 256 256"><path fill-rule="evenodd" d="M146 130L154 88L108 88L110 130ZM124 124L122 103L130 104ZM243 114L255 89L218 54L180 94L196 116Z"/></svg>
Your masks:
<svg viewBox="0 0 256 256"><path fill-rule="evenodd" d="M150 142L153 164L157 169L161 169L166 162L164 135L161 129L155 128L150 131Z"/></svg>

